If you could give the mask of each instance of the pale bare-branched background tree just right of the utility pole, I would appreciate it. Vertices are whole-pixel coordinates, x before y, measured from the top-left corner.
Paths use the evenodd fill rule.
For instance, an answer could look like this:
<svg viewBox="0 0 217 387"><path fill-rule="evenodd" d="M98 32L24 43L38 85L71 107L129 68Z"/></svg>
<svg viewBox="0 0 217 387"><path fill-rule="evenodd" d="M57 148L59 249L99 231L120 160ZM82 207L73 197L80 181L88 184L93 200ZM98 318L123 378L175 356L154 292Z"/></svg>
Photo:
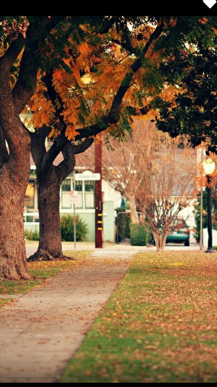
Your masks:
<svg viewBox="0 0 217 387"><path fill-rule="evenodd" d="M150 158L151 141L156 135L156 127L146 120L135 119L132 132L122 142L110 140L110 148L103 148L103 177L124 194L129 201L131 222L139 223L136 209L136 191L142 182L144 168Z"/></svg>

